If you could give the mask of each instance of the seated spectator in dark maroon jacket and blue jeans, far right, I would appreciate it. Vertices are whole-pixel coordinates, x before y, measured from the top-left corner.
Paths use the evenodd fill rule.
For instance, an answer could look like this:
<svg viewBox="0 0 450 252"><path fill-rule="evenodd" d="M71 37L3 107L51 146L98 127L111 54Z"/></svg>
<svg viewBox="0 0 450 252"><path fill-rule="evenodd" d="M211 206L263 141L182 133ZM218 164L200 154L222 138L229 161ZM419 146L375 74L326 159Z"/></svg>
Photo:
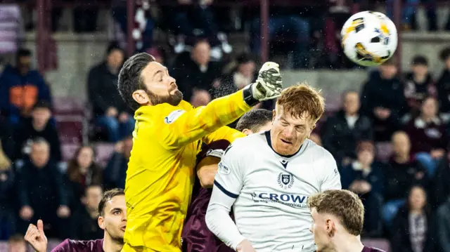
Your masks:
<svg viewBox="0 0 450 252"><path fill-rule="evenodd" d="M446 126L437 115L437 107L436 98L425 98L420 116L405 126L406 133L411 137L411 154L428 169L430 176L435 175L449 143Z"/></svg>

